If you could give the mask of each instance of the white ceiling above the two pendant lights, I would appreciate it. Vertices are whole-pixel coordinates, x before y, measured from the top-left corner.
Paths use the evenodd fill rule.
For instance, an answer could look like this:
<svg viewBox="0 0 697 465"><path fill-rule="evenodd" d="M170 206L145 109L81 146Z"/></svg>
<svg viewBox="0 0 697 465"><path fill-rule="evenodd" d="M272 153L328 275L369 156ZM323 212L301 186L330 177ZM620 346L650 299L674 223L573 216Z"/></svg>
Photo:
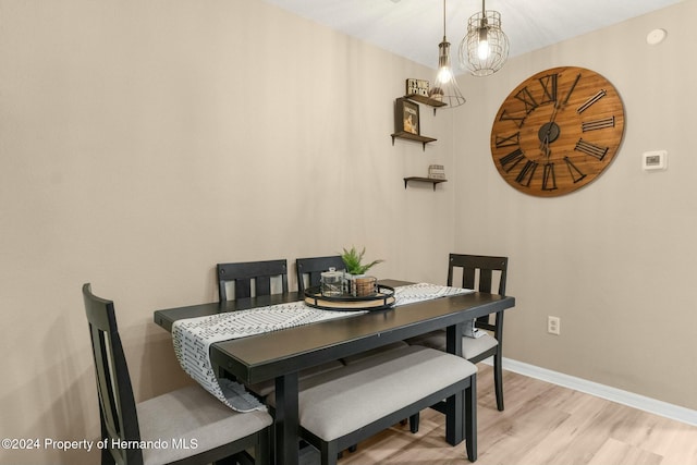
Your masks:
<svg viewBox="0 0 697 465"><path fill-rule="evenodd" d="M443 0L265 0L332 29L436 68L443 37ZM488 0L501 13L510 57L621 23L682 0ZM453 64L479 0L447 1ZM660 27L657 24L656 27ZM648 33L648 30L647 30ZM455 66L457 68L457 66Z"/></svg>

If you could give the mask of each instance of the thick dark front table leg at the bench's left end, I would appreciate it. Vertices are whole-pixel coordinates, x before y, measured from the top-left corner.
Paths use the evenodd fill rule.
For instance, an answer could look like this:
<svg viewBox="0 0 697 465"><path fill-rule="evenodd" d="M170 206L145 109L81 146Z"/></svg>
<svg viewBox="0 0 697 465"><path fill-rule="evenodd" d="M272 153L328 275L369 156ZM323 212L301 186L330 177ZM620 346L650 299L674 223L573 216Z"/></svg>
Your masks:
<svg viewBox="0 0 697 465"><path fill-rule="evenodd" d="M276 378L276 460L279 465L297 465L299 456L297 372Z"/></svg>

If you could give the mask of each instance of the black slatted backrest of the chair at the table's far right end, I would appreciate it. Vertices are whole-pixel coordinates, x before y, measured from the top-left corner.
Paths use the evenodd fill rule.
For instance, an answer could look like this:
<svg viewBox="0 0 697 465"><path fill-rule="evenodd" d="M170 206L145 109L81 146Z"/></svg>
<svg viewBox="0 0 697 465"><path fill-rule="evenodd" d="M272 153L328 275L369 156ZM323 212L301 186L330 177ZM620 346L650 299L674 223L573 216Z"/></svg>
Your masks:
<svg viewBox="0 0 697 465"><path fill-rule="evenodd" d="M460 285L488 294L505 295L505 280L509 268L509 257L493 257L484 255L450 254L448 261L448 285ZM456 281L462 272L462 280ZM498 286L494 286L498 278ZM494 314L497 317L499 314ZM477 327L496 331L496 323L490 323L490 316L477 319Z"/></svg>

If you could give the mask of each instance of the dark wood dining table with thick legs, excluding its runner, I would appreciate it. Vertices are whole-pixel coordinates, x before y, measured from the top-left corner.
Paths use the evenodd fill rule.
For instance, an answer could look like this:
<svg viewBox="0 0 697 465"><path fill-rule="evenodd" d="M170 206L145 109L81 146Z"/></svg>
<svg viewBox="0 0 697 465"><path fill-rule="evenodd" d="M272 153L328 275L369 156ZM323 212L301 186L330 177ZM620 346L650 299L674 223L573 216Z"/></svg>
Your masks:
<svg viewBox="0 0 697 465"><path fill-rule="evenodd" d="M390 279L380 280L380 284L399 287L413 283ZM285 304L303 297L297 292L288 292L158 309L154 311L154 319L171 332L174 322L181 319ZM274 380L276 463L296 465L301 371L441 329L447 330L447 351L462 356L465 321L514 306L512 296L468 292L216 342L209 347L209 356L218 372L231 374L245 384ZM447 412L445 440L451 445L464 440L463 415L462 408Z"/></svg>

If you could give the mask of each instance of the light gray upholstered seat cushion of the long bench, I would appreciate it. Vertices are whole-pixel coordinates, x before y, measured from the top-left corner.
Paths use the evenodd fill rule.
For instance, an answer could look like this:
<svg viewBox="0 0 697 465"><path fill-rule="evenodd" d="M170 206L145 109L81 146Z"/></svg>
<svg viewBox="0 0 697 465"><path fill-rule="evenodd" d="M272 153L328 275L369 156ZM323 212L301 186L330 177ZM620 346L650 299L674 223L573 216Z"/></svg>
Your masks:
<svg viewBox="0 0 697 465"><path fill-rule="evenodd" d="M476 372L464 358L428 347L383 352L301 380L301 426L332 441ZM273 394L267 401L273 405Z"/></svg>

